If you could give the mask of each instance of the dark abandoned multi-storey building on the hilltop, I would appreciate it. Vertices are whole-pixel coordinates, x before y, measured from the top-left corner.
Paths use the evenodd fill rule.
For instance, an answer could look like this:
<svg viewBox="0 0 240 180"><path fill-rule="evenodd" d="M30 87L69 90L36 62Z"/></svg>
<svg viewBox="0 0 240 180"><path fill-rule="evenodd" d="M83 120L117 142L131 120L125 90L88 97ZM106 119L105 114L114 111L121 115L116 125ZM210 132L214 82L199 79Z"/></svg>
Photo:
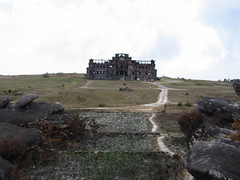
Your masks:
<svg viewBox="0 0 240 180"><path fill-rule="evenodd" d="M124 79L154 81L157 78L154 60L132 60L128 54L115 54L111 60L90 59L88 79Z"/></svg>

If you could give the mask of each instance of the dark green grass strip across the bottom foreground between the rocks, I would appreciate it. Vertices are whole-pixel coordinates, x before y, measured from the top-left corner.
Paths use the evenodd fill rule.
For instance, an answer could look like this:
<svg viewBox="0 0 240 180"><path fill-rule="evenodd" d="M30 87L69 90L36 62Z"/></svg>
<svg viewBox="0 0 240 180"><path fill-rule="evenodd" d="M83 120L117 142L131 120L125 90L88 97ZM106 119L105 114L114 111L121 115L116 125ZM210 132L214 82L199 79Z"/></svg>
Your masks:
<svg viewBox="0 0 240 180"><path fill-rule="evenodd" d="M160 152L72 152L61 155L57 166L34 172L30 179L181 179L182 168L178 158Z"/></svg>

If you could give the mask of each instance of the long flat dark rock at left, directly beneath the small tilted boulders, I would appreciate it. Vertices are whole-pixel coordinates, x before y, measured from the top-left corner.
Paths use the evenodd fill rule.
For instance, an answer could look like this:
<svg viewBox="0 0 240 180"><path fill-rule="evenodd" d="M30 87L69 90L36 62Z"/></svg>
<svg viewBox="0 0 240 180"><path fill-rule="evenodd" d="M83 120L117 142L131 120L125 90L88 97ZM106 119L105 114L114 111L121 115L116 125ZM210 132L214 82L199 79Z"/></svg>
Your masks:
<svg viewBox="0 0 240 180"><path fill-rule="evenodd" d="M15 125L26 125L41 119L46 119L53 113L63 112L59 103L32 102L22 108L0 109L0 122L9 122Z"/></svg>

